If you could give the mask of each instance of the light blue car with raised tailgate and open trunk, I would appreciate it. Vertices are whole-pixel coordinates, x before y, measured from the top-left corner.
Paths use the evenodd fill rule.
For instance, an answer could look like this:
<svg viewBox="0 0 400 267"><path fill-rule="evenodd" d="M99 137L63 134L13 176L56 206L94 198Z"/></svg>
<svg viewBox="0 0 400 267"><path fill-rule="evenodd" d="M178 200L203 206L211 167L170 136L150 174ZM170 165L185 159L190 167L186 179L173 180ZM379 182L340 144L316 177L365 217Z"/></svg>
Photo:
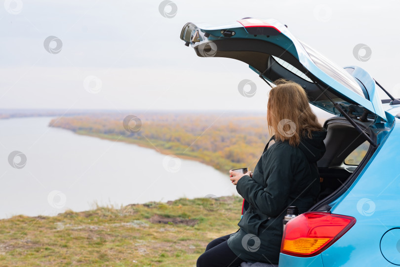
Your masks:
<svg viewBox="0 0 400 267"><path fill-rule="evenodd" d="M332 114L323 125L318 201L286 224L279 267L399 266L399 99L362 68L335 65L274 19L187 23L180 38L200 57L248 64L269 86L293 80L310 104Z"/></svg>

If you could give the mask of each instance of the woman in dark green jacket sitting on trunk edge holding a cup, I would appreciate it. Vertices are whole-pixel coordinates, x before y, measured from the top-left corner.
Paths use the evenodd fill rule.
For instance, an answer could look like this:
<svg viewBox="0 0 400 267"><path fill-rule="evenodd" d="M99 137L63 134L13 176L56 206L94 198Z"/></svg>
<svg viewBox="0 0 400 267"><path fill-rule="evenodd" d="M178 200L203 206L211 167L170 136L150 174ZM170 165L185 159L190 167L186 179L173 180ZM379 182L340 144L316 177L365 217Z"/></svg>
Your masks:
<svg viewBox="0 0 400 267"><path fill-rule="evenodd" d="M287 207L297 206L303 213L315 204L320 192L316 162L325 153L326 130L299 84L282 79L275 84L267 106L268 128L275 143L262 154L252 175L230 171L232 183L249 202L240 229L211 241L198 267L278 264Z"/></svg>

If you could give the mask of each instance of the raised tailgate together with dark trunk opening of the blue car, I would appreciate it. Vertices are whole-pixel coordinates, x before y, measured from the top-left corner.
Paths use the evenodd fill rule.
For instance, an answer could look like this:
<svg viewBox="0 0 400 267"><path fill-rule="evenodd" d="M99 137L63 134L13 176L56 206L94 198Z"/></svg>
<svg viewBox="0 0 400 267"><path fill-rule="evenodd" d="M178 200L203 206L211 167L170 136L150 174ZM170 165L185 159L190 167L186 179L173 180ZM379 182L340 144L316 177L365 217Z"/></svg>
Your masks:
<svg viewBox="0 0 400 267"><path fill-rule="evenodd" d="M310 104L340 116L324 124L326 153L318 161L321 191L311 208L329 211L378 146L369 125L388 121L375 80L358 67L332 63L274 19L244 18L215 26L187 23L180 38L198 56L240 60L268 83L279 78L295 81L304 88ZM370 145L365 145L362 160L345 164L346 157L365 141Z"/></svg>

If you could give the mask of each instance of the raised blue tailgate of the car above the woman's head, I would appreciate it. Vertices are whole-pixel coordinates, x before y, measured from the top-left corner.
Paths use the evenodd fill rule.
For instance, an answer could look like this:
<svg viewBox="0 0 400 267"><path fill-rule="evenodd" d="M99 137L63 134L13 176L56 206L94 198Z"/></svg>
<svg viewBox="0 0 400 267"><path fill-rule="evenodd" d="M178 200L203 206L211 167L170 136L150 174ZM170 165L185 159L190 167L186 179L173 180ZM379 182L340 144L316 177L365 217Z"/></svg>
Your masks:
<svg viewBox="0 0 400 267"><path fill-rule="evenodd" d="M372 77L337 66L277 20L244 18L217 26L187 23L180 38L200 57L240 60L264 80L299 83L310 104L331 114L343 110L387 121Z"/></svg>

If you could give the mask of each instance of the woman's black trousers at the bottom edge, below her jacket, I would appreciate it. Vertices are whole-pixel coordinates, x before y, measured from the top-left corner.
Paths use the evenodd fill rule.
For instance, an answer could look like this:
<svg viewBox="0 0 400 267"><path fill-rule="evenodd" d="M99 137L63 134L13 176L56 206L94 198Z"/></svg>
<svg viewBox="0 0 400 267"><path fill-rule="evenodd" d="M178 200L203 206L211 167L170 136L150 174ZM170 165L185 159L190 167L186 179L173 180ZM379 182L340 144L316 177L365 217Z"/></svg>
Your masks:
<svg viewBox="0 0 400 267"><path fill-rule="evenodd" d="M197 259L197 267L240 267L243 260L228 246L227 240L231 234L209 242L205 252Z"/></svg>

